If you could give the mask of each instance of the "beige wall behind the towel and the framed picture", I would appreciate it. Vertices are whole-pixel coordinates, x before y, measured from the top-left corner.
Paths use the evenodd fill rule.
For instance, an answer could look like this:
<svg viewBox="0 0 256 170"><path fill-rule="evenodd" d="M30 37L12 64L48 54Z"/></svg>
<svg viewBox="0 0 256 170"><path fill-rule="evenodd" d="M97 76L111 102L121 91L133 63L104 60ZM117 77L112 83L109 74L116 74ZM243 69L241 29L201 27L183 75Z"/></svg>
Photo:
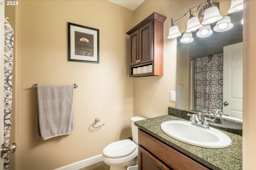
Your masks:
<svg viewBox="0 0 256 170"><path fill-rule="evenodd" d="M131 136L133 79L128 76L126 31L133 12L109 1L22 0L17 7L15 169L58 168L101 154L106 145ZM67 61L67 22L100 29L100 64ZM74 133L36 139L34 83L79 85L74 90ZM96 117L105 123L100 129L91 127Z"/></svg>

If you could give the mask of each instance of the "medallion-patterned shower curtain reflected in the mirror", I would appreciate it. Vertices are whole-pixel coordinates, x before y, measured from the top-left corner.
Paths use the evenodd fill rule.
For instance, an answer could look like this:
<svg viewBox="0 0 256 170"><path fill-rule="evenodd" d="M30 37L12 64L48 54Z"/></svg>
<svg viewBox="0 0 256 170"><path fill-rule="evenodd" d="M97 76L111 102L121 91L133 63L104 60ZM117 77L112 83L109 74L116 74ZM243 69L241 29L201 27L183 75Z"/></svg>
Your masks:
<svg viewBox="0 0 256 170"><path fill-rule="evenodd" d="M223 53L195 60L195 109L222 109Z"/></svg>

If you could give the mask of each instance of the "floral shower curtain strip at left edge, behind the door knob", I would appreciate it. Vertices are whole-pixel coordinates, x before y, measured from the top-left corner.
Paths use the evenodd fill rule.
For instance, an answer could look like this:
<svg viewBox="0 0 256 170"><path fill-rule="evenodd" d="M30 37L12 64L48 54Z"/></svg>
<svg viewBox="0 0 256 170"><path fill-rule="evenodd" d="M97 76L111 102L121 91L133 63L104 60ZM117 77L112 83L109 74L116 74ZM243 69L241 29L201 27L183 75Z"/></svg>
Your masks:
<svg viewBox="0 0 256 170"><path fill-rule="evenodd" d="M9 147L12 122L12 64L14 30L4 18L4 146ZM9 153L4 154L4 170L9 168Z"/></svg>

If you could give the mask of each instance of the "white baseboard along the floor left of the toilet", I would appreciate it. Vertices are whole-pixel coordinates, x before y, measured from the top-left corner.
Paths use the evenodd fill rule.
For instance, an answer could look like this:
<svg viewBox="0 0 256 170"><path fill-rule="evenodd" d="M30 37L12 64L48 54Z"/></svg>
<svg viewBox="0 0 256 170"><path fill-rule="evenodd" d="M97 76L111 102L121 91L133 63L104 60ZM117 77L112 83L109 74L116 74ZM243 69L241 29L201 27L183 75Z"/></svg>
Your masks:
<svg viewBox="0 0 256 170"><path fill-rule="evenodd" d="M84 159L84 160L80 160L78 162L66 165L66 166L62 166L60 168L57 168L55 170L79 170L81 168L84 168L86 166L90 166L92 164L96 164L100 161L102 161L102 154L96 155L96 156L92 156L90 158Z"/></svg>

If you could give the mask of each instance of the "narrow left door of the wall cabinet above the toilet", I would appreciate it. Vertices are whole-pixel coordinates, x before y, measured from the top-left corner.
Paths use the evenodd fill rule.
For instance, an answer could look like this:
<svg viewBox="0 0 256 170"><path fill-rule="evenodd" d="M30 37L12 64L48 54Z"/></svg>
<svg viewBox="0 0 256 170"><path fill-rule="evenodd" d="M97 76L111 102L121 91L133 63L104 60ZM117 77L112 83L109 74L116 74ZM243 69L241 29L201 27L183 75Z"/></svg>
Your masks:
<svg viewBox="0 0 256 170"><path fill-rule="evenodd" d="M139 30L130 35L130 65L138 64L139 59Z"/></svg>

